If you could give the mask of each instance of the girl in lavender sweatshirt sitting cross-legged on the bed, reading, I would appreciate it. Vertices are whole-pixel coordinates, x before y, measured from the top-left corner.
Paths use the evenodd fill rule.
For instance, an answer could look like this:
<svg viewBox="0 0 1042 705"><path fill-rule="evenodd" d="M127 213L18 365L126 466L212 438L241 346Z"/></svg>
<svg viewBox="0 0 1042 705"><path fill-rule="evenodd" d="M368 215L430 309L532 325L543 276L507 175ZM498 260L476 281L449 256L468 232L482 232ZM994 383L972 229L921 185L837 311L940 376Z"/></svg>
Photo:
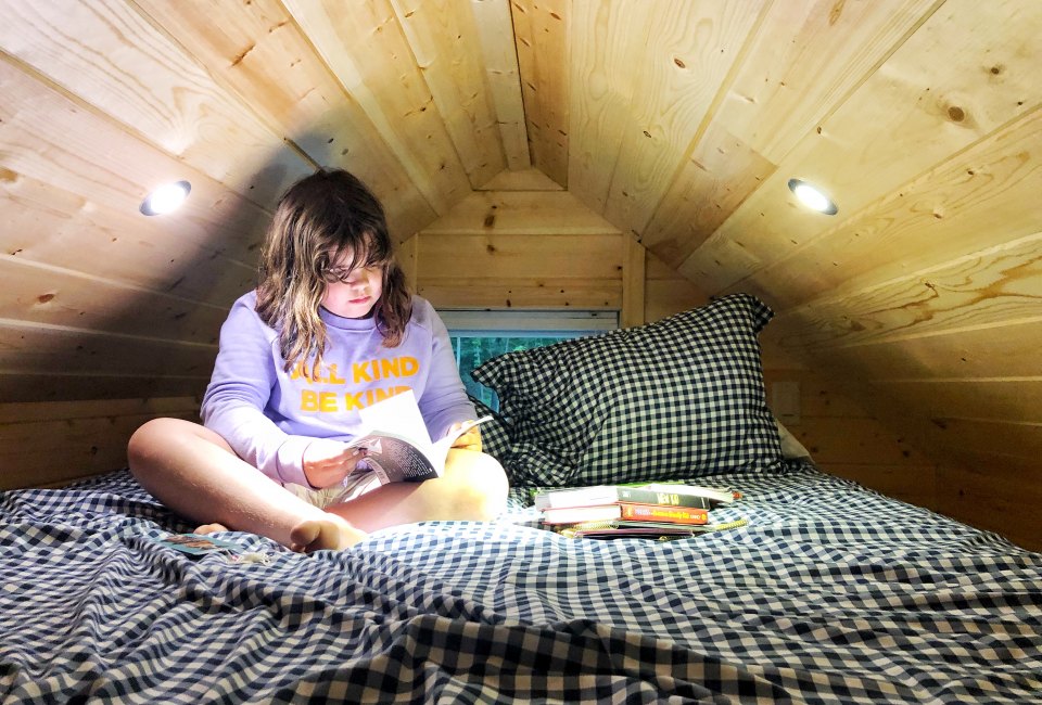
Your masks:
<svg viewBox="0 0 1042 705"><path fill-rule="evenodd" d="M424 520L486 520L506 503L503 467L461 435L441 477L380 485L352 472L359 409L411 389L432 438L475 416L448 333L411 296L383 208L356 177L320 170L276 208L260 284L234 303L203 397L203 425L155 419L131 437L135 477L202 524L300 551L343 549Z"/></svg>

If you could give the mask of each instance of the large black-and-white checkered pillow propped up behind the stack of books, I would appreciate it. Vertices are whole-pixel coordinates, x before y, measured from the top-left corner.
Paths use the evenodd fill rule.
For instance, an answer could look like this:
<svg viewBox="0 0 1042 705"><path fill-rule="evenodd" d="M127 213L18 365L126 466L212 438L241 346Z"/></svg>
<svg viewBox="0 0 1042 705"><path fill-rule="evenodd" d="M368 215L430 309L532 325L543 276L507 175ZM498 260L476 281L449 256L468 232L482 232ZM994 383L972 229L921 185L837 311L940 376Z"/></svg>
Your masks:
<svg viewBox="0 0 1042 705"><path fill-rule="evenodd" d="M778 464L757 339L773 315L734 294L647 325L493 358L472 373L499 396L508 444L490 452L514 485L539 487Z"/></svg>

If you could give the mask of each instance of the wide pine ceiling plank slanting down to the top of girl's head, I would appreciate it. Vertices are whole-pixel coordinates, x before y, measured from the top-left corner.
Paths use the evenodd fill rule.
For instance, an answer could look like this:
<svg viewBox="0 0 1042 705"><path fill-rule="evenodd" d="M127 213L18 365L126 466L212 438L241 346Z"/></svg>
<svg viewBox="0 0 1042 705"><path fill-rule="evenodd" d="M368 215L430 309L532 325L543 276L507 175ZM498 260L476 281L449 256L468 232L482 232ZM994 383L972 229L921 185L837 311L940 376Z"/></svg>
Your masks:
<svg viewBox="0 0 1042 705"><path fill-rule="evenodd" d="M279 0L132 1L307 159L365 181L394 236L405 240L436 217Z"/></svg>

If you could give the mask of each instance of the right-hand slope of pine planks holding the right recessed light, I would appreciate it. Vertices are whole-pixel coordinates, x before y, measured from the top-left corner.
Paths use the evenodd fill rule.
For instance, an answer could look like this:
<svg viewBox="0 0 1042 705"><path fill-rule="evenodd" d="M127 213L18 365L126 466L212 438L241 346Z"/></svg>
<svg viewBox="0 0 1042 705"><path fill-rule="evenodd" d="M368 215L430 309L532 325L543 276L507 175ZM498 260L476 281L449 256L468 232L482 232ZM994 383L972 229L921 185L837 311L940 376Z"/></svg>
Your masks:
<svg viewBox="0 0 1042 705"><path fill-rule="evenodd" d="M656 8L572 2L524 35L569 56L567 82L521 72L568 115L568 189L707 294L768 302L772 348L928 452L946 511L1042 546L1018 501L1042 491L1042 5Z"/></svg>

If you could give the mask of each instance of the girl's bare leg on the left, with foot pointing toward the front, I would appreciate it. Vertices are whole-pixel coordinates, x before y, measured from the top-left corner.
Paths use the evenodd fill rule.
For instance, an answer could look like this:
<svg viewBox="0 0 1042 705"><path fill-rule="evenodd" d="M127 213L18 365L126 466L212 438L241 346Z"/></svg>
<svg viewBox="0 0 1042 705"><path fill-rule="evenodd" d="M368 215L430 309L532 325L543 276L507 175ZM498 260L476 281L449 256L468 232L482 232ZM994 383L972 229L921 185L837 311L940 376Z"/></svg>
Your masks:
<svg viewBox="0 0 1042 705"><path fill-rule="evenodd" d="M127 452L138 482L178 514L207 525L201 530L227 526L304 551L344 549L366 537L343 516L283 489L199 424L150 421L130 438Z"/></svg>

